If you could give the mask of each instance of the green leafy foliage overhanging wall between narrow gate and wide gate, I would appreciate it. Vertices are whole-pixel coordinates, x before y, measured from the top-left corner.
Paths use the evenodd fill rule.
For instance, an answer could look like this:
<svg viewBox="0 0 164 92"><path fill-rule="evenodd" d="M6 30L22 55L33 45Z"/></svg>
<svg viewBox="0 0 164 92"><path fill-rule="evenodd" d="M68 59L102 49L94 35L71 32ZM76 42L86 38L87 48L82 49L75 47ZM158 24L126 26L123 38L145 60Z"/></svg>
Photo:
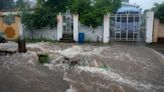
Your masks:
<svg viewBox="0 0 164 92"><path fill-rule="evenodd" d="M115 13L120 7L121 0L74 0L71 6L73 13L80 15L80 22L93 28L102 24L103 16L107 13Z"/></svg>

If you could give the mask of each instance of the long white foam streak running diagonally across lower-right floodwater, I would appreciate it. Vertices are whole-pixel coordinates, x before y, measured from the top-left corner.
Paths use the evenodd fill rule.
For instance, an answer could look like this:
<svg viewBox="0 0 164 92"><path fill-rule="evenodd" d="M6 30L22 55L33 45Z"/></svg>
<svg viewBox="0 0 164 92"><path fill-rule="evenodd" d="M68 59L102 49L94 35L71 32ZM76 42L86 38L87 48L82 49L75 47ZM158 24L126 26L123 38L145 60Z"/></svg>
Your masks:
<svg viewBox="0 0 164 92"><path fill-rule="evenodd" d="M129 86L132 86L133 88L136 89L141 89L143 88L144 90L152 90L154 85L152 84L144 84L135 80L129 80L121 75L111 72L111 71L105 71L104 69L100 68L94 68L94 67L78 67L79 70L90 72L90 73L96 73L96 74L102 74L103 79L108 79L108 80L113 80L121 84L126 84Z"/></svg>

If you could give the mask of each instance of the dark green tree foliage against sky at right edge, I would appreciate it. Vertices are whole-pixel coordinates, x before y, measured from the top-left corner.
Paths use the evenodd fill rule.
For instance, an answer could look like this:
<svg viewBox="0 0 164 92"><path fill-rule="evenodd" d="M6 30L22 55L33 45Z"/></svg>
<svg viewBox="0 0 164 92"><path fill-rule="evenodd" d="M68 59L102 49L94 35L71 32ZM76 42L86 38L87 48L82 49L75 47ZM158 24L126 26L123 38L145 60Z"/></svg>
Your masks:
<svg viewBox="0 0 164 92"><path fill-rule="evenodd" d="M164 3L155 3L152 10L155 12L155 18L158 18L161 23L164 23Z"/></svg>

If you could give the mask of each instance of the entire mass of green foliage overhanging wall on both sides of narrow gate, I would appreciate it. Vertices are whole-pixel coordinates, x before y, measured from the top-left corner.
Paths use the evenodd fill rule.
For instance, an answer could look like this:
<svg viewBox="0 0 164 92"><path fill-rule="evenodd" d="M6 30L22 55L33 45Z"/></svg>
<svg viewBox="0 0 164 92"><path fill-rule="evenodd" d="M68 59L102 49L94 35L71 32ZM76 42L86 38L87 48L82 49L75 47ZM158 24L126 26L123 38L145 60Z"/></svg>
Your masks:
<svg viewBox="0 0 164 92"><path fill-rule="evenodd" d="M41 27L54 27L56 16L67 9L72 14L79 14L80 22L93 28L102 24L103 16L116 12L121 0L37 0L33 11L22 13L22 22L31 31Z"/></svg>

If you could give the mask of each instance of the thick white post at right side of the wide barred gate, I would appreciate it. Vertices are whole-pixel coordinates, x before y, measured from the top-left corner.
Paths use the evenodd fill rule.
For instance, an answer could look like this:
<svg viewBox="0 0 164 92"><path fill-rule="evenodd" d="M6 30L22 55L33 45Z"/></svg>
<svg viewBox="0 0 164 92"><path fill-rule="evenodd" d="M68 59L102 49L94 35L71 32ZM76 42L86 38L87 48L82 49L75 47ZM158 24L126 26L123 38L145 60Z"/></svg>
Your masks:
<svg viewBox="0 0 164 92"><path fill-rule="evenodd" d="M154 12L146 12L146 43L153 42L153 22L154 22Z"/></svg>

